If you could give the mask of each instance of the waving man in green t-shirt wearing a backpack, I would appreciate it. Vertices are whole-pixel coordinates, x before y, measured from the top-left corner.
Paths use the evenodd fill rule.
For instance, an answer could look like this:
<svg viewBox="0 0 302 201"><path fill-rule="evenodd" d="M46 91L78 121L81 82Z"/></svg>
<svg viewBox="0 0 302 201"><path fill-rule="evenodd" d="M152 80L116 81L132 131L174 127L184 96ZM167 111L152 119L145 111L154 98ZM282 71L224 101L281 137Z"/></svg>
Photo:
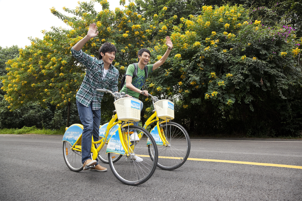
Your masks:
<svg viewBox="0 0 302 201"><path fill-rule="evenodd" d="M134 72L134 65L130 64L126 71L126 84L120 90L121 92L128 93L130 96L136 99L138 99L140 94L142 94L143 92L144 92L143 94L144 96L148 96L148 91L142 90L143 83L145 81L145 76L146 76L145 69L144 69L145 65L147 65L148 67L148 74L154 71L159 66L161 66L166 61L173 48L173 44L169 36L166 36L166 45L168 46L167 51L162 56L162 58L159 59L159 61L157 61L155 64L147 65L151 57L151 53L148 49L143 48L138 51L137 76L132 79L133 72ZM142 111L142 109L143 109L143 102L141 102L140 111ZM135 122L134 125L138 125L138 122ZM130 136L130 141L138 141L138 140L139 138L137 136L137 133L133 133Z"/></svg>

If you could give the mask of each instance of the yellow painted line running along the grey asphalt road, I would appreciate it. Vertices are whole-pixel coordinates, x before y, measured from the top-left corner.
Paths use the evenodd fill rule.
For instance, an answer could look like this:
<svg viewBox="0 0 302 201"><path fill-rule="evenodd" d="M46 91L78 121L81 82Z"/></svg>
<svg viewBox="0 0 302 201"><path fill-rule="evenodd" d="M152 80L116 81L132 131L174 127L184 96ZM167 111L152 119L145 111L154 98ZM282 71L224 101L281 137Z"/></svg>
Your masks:
<svg viewBox="0 0 302 201"><path fill-rule="evenodd" d="M141 157L149 157L149 155L139 155L139 156L141 156ZM158 158L162 158L162 159L181 159L180 157L167 157L167 156L159 156ZM282 167L282 168L302 169L302 166L297 166L297 165L281 165L281 164L272 164L272 163L255 163L255 162L244 162L244 161L227 161L227 160L196 159L196 158L188 158L187 160L223 162L223 163L238 163L238 164L246 164L246 165L262 165L262 166L273 166L273 167Z"/></svg>

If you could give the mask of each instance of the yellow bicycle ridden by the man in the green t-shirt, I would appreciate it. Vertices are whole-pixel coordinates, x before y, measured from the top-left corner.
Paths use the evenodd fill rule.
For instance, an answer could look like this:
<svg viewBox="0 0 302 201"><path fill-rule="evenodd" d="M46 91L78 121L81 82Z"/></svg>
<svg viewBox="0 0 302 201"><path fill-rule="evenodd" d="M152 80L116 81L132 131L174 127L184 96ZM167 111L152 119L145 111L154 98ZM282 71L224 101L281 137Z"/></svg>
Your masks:
<svg viewBox="0 0 302 201"><path fill-rule="evenodd" d="M166 99L159 100L151 94L149 96L153 102L154 113L148 118L143 128L146 129L150 124L156 123L150 133L158 148L157 166L164 170L174 170L188 159L191 149L190 137L184 127L171 122L174 119L174 103ZM102 127L105 126L106 124ZM140 135L138 136L141 138ZM153 147L148 145L149 152L152 152ZM104 150L99 152L98 158L108 163Z"/></svg>

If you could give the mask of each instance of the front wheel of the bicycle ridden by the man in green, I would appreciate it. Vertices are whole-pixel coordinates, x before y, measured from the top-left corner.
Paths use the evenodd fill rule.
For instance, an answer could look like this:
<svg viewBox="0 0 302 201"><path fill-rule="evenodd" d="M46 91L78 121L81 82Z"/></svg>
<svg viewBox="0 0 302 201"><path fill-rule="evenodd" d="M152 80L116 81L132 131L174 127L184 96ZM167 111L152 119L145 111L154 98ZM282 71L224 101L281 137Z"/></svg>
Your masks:
<svg viewBox="0 0 302 201"><path fill-rule="evenodd" d="M175 122L163 123L161 128L169 145L157 145L159 154L157 167L163 170L175 170L188 159L191 150L190 137L185 128ZM151 146L149 149L152 153ZM152 156L150 155L150 157Z"/></svg>

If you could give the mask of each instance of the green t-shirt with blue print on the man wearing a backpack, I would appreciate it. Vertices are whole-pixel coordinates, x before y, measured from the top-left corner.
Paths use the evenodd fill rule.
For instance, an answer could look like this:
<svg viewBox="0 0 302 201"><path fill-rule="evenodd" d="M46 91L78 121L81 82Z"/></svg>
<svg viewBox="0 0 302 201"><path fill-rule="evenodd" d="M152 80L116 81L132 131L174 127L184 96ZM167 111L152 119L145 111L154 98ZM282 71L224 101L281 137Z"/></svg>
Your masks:
<svg viewBox="0 0 302 201"><path fill-rule="evenodd" d="M137 64L137 66L138 66L138 64ZM147 67L148 67L148 75L149 75L149 73L152 72L153 64L149 64L149 65L147 65ZM131 77L133 77L133 73L134 73L134 65L130 64L127 68L126 75L130 75ZM137 76L132 79L132 82L131 82L132 85L135 86L137 89L141 90L143 87L144 81L145 81L145 77L146 77L145 69L141 70L139 67L137 67ZM125 85L120 90L120 92L126 93L126 81L125 81ZM127 88L127 92L130 96L137 98L137 99L138 99L138 96L140 96L140 93L134 92L128 88Z"/></svg>

